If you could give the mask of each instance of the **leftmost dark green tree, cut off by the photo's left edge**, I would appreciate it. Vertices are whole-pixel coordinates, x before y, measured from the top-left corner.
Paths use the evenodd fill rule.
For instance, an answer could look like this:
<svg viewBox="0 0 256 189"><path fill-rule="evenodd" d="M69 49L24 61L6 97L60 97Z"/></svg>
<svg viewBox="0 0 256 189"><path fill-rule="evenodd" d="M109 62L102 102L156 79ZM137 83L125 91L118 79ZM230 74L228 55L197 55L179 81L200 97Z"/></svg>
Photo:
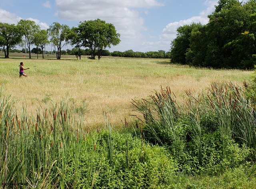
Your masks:
<svg viewBox="0 0 256 189"><path fill-rule="evenodd" d="M19 44L22 41L22 36L20 26L0 22L0 46L4 49L5 58L9 58L9 49Z"/></svg>

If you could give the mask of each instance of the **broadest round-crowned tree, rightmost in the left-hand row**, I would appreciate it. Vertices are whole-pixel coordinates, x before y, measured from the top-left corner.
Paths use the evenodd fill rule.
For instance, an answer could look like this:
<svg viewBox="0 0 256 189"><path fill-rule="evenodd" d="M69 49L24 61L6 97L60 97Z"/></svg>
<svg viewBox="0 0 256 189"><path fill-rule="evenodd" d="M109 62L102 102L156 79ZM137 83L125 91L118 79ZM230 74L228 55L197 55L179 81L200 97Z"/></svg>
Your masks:
<svg viewBox="0 0 256 189"><path fill-rule="evenodd" d="M98 51L98 59L100 59L102 50L120 43L120 34L116 33L114 25L108 24L104 20L97 19L80 22L78 28L83 46L92 50L92 59L95 59L96 50Z"/></svg>

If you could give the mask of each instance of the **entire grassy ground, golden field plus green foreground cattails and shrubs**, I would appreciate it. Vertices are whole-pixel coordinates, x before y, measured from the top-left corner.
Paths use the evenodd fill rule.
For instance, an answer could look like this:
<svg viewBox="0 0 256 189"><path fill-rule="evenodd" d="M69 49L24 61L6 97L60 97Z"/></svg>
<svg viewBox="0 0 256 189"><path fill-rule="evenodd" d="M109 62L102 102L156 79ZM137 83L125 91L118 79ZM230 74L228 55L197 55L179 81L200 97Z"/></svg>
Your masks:
<svg viewBox="0 0 256 189"><path fill-rule="evenodd" d="M0 58L1 188L256 187L255 105L246 99L255 93L233 85L252 72L10 57ZM20 62L28 78L18 77ZM161 85L181 103L185 90L199 95L181 106ZM133 109L143 115L136 124Z"/></svg>

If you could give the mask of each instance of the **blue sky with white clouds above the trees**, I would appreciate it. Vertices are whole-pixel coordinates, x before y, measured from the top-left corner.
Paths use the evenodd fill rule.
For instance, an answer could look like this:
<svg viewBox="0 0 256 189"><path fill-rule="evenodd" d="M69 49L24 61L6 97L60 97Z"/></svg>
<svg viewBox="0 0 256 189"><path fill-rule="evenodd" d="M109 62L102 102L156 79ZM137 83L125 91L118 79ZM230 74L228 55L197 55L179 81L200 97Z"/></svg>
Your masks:
<svg viewBox="0 0 256 189"><path fill-rule="evenodd" d="M245 0L246 1L246 0ZM41 29L53 22L78 26L84 20L100 18L120 33L113 51L149 52L170 50L179 26L208 23L218 0L0 0L0 22L17 24L34 20ZM49 50L50 46L46 47ZM71 46L66 46L71 49Z"/></svg>

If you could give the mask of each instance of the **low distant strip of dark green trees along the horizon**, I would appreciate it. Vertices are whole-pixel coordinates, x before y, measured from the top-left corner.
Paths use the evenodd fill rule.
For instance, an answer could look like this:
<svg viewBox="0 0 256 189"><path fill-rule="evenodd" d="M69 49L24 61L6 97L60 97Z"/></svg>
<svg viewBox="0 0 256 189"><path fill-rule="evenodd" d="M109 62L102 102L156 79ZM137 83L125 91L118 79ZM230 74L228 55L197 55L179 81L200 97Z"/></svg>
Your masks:
<svg viewBox="0 0 256 189"><path fill-rule="evenodd" d="M80 51L81 51L81 55L84 55L84 56L90 56L92 54L91 50L88 48L81 49ZM24 48L22 50L11 49L10 52L25 53L25 49ZM28 52L28 49L27 49L27 52ZM42 54L42 50L40 48L33 48L31 52L34 54L37 54L37 53ZM51 52L46 51L44 54L51 54ZM52 54L56 54L56 51L53 50ZM72 50L69 50L69 49L62 50L61 54L79 56L79 51L77 48L72 48ZM126 50L124 52L121 52L121 51L109 52L109 50L102 50L102 56L115 56L115 57L128 57L128 58L170 58L170 52L165 52L164 50L149 51L149 52L134 52L133 50Z"/></svg>

